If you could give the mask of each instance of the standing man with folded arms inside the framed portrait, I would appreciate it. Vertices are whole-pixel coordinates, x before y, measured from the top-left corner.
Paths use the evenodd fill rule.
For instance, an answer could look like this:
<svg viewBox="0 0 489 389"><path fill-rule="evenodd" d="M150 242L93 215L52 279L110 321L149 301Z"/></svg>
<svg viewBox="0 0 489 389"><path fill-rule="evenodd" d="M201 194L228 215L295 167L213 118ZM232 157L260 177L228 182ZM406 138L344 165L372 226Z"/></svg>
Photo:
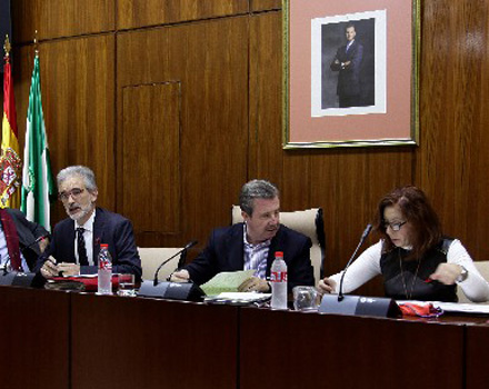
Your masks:
<svg viewBox="0 0 489 389"><path fill-rule="evenodd" d="M340 108L359 107L363 46L355 40L357 32L353 24L348 24L345 33L347 44L338 49L330 68L332 71L339 71L337 94Z"/></svg>

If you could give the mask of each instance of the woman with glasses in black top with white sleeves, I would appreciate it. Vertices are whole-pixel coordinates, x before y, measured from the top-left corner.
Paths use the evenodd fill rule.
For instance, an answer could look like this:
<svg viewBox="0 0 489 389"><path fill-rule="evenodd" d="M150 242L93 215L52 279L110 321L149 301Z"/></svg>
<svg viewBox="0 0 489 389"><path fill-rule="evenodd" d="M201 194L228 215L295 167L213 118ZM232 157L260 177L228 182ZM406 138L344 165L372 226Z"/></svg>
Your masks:
<svg viewBox="0 0 489 389"><path fill-rule="evenodd" d="M349 268L343 292L378 275L386 296L396 300L457 301L457 285L471 301L489 300L489 285L458 239L443 237L426 194L416 187L395 189L378 206L375 229L381 235ZM341 275L319 281L318 289L337 293Z"/></svg>

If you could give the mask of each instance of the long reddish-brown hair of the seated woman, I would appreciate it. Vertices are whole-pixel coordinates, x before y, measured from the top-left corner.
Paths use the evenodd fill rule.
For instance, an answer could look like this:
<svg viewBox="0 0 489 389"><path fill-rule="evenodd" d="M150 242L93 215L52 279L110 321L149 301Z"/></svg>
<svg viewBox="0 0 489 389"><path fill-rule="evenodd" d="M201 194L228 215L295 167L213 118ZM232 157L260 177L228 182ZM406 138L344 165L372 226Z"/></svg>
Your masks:
<svg viewBox="0 0 489 389"><path fill-rule="evenodd" d="M409 258L420 259L441 240L441 226L425 192L412 186L396 188L379 202L375 228L380 232L383 251L390 251L395 245L387 235L383 211L387 207L399 206L406 221L411 225L412 236L409 237L412 251Z"/></svg>

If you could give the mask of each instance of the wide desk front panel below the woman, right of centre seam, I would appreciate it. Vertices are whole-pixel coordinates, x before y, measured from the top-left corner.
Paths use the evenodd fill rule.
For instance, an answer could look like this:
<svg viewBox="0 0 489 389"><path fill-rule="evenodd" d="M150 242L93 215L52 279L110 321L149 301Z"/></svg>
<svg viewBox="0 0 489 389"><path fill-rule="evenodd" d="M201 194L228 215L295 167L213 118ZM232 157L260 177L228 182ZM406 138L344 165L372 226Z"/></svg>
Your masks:
<svg viewBox="0 0 489 389"><path fill-rule="evenodd" d="M463 388L463 326L242 309L240 389Z"/></svg>

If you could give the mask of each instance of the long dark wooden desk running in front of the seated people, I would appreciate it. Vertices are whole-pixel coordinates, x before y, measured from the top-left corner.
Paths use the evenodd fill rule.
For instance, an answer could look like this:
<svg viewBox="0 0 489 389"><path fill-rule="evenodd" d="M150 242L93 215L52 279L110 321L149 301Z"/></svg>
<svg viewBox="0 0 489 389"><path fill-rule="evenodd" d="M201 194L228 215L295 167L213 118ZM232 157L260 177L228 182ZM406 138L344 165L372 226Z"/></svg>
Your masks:
<svg viewBox="0 0 489 389"><path fill-rule="evenodd" d="M385 319L0 287L0 388L488 388L487 317ZM8 369L7 369L8 367Z"/></svg>

